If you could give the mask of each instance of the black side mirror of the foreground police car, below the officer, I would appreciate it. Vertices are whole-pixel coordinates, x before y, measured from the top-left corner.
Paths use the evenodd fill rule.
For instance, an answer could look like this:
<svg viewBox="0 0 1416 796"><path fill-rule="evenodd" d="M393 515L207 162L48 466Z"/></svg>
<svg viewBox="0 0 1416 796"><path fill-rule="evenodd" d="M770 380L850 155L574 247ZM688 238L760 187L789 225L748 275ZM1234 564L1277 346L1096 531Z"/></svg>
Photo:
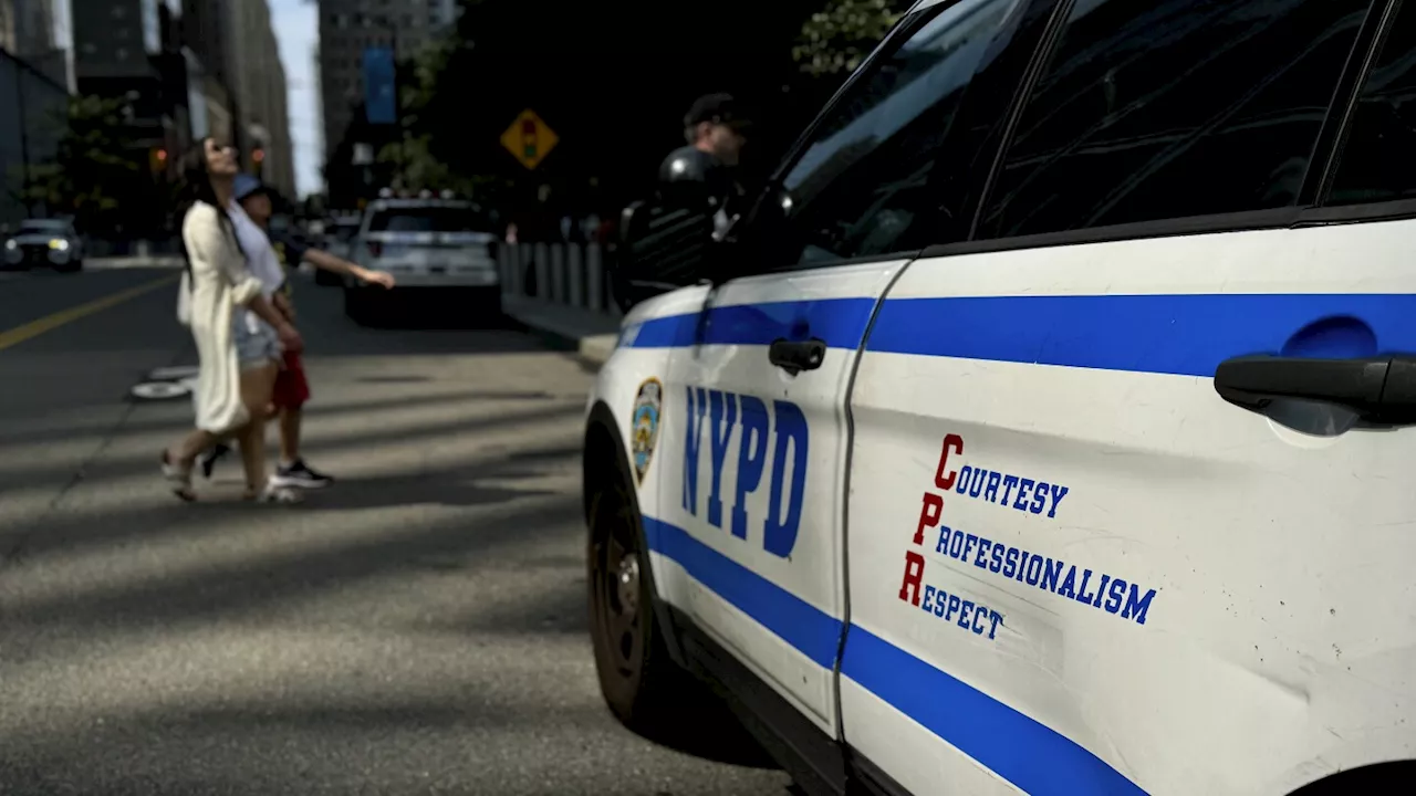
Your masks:
<svg viewBox="0 0 1416 796"><path fill-rule="evenodd" d="M714 210L639 201L620 214L609 271L622 309L712 278Z"/></svg>

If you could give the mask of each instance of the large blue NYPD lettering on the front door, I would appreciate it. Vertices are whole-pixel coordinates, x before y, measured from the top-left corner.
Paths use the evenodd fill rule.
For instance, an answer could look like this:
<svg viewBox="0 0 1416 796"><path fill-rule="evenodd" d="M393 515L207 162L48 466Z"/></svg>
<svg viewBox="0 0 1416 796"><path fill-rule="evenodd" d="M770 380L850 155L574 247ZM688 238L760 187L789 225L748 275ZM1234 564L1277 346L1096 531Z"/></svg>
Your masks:
<svg viewBox="0 0 1416 796"><path fill-rule="evenodd" d="M684 426L684 511L702 516L708 524L741 540L748 538L749 530L760 528L763 550L790 557L801 524L810 442L801 408L789 401L772 401L769 408L752 395L688 387ZM709 489L707 500L701 500L700 463L705 449ZM729 456L736 465L733 483L725 483L724 465ZM767 513L752 517L748 496L762 489L763 480Z"/></svg>

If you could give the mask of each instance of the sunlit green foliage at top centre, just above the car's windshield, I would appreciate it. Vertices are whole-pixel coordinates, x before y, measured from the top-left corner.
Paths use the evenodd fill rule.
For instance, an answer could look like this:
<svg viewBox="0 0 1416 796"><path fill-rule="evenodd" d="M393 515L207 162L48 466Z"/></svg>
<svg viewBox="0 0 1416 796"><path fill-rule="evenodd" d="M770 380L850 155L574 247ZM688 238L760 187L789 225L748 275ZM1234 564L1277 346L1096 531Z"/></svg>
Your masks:
<svg viewBox="0 0 1416 796"><path fill-rule="evenodd" d="M831 0L801 24L792 57L811 76L845 75L903 14L899 0Z"/></svg>

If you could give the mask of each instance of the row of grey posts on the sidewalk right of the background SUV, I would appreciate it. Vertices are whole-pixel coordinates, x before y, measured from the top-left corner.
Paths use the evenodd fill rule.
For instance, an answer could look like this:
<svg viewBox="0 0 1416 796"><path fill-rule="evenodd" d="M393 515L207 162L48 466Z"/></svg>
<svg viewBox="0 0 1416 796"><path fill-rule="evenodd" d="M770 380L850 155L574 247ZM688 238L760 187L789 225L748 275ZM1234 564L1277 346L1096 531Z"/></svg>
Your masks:
<svg viewBox="0 0 1416 796"><path fill-rule="evenodd" d="M619 319L600 244L501 244L501 292L548 306L566 306Z"/></svg>

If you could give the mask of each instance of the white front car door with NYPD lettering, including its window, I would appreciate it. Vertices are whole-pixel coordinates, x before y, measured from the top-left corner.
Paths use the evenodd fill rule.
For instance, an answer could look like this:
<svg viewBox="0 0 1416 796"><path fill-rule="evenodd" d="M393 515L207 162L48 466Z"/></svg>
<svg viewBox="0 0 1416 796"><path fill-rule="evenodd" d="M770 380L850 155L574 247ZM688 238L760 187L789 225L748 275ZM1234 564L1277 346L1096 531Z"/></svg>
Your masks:
<svg viewBox="0 0 1416 796"><path fill-rule="evenodd" d="M947 217L933 167L1018 0L925 4L807 132L742 234L743 272L680 327L664 517L692 620L833 737L845 603L845 399L889 282ZM678 423L677 426L674 423ZM677 500L673 500L677 499Z"/></svg>

